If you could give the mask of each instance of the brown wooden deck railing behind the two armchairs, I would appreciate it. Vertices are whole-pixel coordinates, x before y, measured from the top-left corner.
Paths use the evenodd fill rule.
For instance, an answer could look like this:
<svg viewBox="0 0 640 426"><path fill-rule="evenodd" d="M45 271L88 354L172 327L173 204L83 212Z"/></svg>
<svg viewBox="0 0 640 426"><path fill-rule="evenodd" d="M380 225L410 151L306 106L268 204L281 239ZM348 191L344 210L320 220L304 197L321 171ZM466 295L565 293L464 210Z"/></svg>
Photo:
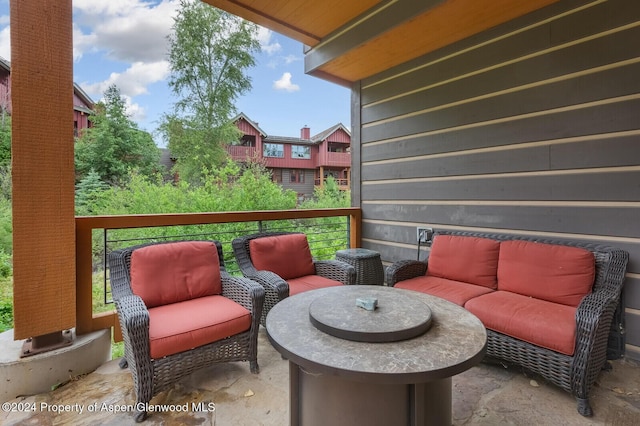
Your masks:
<svg viewBox="0 0 640 426"><path fill-rule="evenodd" d="M123 216L83 216L76 217L76 332L85 334L92 331L114 327L117 316L114 311L93 312L93 273L96 251L101 252L100 257L104 261L106 253L118 245L135 245L140 240L163 240L176 238L203 238L211 235L210 239L218 239L217 232L203 231L199 229L195 234L184 232L152 232L145 237L127 239L120 236L109 237L114 230L131 230L135 228L169 229L185 226L201 227L213 224L240 224L232 231L225 231L225 239L242 235L242 233L260 232L266 229L274 230L272 225L286 220L310 220L320 218L346 217L345 231L348 233L347 241L350 247L360 247L362 212L359 208L344 209L315 209L315 210L277 210L277 211L249 211L249 212L217 212L217 213L184 213L184 214L150 214L150 215L123 215ZM265 226L267 228L265 229ZM111 247L109 246L111 244ZM313 250L313 248L312 248ZM225 248L225 263L232 262L229 257L232 253ZM115 339L119 340L119 327L114 327Z"/></svg>

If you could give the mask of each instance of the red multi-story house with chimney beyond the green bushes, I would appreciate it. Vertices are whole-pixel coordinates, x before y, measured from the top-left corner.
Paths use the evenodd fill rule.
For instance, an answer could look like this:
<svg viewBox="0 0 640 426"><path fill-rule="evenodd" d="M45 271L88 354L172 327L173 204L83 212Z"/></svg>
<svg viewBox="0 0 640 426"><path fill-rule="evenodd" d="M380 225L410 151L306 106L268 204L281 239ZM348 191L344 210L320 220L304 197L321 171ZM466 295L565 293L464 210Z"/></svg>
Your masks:
<svg viewBox="0 0 640 426"><path fill-rule="evenodd" d="M324 185L332 176L340 189L351 185L351 133L340 124L311 136L307 126L300 137L268 135L258 123L241 113L233 119L243 136L227 146L227 152L237 162L258 161L273 175L273 180L285 189L298 193L298 198L310 198L316 186Z"/></svg>

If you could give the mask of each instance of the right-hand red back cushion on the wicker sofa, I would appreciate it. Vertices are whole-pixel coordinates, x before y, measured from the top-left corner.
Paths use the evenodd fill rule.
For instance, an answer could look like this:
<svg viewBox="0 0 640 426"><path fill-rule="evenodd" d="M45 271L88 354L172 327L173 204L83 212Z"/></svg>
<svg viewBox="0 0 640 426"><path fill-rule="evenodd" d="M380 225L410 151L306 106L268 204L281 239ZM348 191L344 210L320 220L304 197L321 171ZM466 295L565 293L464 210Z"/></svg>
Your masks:
<svg viewBox="0 0 640 426"><path fill-rule="evenodd" d="M589 250L518 240L500 245L499 290L578 306L591 292L594 277Z"/></svg>

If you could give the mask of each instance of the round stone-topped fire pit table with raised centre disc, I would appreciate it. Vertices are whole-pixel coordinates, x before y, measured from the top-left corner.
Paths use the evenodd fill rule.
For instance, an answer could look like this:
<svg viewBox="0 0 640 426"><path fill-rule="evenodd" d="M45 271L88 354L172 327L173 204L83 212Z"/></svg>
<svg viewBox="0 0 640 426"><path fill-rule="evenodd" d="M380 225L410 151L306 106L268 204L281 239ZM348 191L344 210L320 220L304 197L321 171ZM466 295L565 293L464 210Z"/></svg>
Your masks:
<svg viewBox="0 0 640 426"><path fill-rule="evenodd" d="M378 299L375 310L356 306L356 299L370 297ZM407 297L415 303L395 303ZM345 302L349 300L352 307ZM319 314L325 305L334 307L328 319ZM385 317L415 328L425 321L425 313L417 309L423 305L430 311L424 333L398 341L362 341L362 333L376 332L365 323L380 324L384 333L393 328L404 332L402 324L389 326ZM318 328L313 322L319 321L312 322L310 315L330 322L332 329L347 329L346 338L336 337L340 331L329 334L322 325ZM456 304L366 285L288 297L271 309L266 326L273 346L289 360L292 426L451 424L451 377L478 364L487 341L480 320ZM358 340L349 338L351 329L360 334Z"/></svg>

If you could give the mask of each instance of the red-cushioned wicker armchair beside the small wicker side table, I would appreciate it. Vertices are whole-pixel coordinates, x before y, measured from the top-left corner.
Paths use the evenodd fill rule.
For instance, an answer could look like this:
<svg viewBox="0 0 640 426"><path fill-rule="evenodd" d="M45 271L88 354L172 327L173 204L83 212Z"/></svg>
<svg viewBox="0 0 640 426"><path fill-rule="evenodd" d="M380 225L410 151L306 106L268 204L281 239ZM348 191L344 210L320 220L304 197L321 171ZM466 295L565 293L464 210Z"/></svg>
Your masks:
<svg viewBox="0 0 640 426"><path fill-rule="evenodd" d="M286 252L287 247L283 247L283 251L280 251L279 248L282 247L280 243L292 238L299 239L300 249L291 253ZM252 241L254 241L254 246L256 243L271 241L274 243L272 246L274 249L267 253L263 252L262 258L256 259L256 249L255 247L252 249ZM265 288L264 308L262 310L262 318L260 319L262 325L265 325L269 310L282 299L289 297L290 294L330 285L355 284L356 270L348 263L338 260L312 259L306 235L302 233L266 232L247 235L233 240L232 246L242 274L260 283ZM254 253L254 258L252 258L252 252ZM278 260L270 262L266 257L284 260L288 265L277 265L280 263ZM299 260L301 258L303 258L303 260ZM287 274L287 272L284 271L285 269L290 269L293 265L304 262L313 263L311 271L307 271L310 275L298 275L295 271L287 271L289 272L289 274ZM256 264L260 263L263 266L256 267ZM280 275L278 273L280 273ZM317 275L320 279L312 275ZM306 278L310 278L310 280Z"/></svg>

